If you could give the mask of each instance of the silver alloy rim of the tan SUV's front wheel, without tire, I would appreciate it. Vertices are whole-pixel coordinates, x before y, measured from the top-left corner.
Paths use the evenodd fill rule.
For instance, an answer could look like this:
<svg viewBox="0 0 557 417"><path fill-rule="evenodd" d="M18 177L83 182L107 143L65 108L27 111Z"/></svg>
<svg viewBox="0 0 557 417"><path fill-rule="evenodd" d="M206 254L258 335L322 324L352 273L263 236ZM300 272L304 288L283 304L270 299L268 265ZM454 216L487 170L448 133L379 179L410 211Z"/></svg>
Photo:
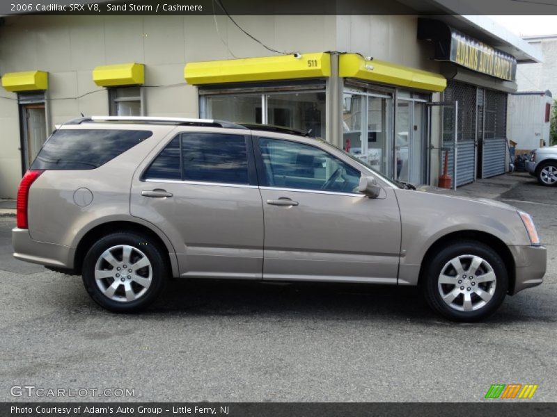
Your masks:
<svg viewBox="0 0 557 417"><path fill-rule="evenodd" d="M477 255L461 255L441 269L438 288L441 299L457 311L476 311L492 299L496 276L485 259Z"/></svg>

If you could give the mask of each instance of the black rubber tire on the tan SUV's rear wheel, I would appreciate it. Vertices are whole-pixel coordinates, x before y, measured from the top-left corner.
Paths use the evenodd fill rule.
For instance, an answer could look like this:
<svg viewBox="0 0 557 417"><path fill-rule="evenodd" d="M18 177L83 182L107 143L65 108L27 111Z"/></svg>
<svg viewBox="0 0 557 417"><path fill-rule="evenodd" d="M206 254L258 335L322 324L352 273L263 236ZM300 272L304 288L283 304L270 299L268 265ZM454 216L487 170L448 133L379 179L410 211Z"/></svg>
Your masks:
<svg viewBox="0 0 557 417"><path fill-rule="evenodd" d="M121 252L119 252L120 249L118 248L120 245L122 247ZM124 247L132 247L129 255L130 265L120 265L120 262L123 261ZM100 259L101 255L110 248L113 248L111 254L118 268L122 269L123 266L126 266L130 269L116 271L116 266ZM119 256L120 253L122 254L121 258ZM147 262L150 263L149 265L133 270L133 272L127 272L132 271L133 263L143 260L143 257L146 257ZM115 277L107 277L107 279L97 281L95 279L97 261L100 262L99 267L103 270L102 272L113 272L115 275L117 272L123 272L119 278L121 282L116 282L118 279ZM130 275L127 275L128 273ZM161 293L168 275L168 263L162 249L147 236L129 231L117 231L97 240L88 250L83 263L83 282L87 293L97 304L116 313L133 313L146 309ZM130 279L130 277L132 278ZM148 286L140 285L134 279L143 279L141 282L148 282L150 284ZM113 297L120 300L113 300L113 298L105 295L101 290L100 286L108 288L111 286L110 284L118 286L116 291L113 291ZM122 300L127 297L126 291L128 289L131 289L134 295L137 296L136 299L131 301Z"/></svg>

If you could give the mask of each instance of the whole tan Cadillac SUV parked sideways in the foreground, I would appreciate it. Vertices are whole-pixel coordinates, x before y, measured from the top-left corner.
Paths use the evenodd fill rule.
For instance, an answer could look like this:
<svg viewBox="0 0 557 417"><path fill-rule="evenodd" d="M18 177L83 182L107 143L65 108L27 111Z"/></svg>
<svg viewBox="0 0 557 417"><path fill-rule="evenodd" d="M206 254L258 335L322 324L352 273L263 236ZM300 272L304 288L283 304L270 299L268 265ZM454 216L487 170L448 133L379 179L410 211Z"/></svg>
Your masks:
<svg viewBox="0 0 557 417"><path fill-rule="evenodd" d="M419 285L441 315L474 321L546 270L512 206L416 190L276 128L161 117L56 130L19 186L13 247L121 312L195 277Z"/></svg>

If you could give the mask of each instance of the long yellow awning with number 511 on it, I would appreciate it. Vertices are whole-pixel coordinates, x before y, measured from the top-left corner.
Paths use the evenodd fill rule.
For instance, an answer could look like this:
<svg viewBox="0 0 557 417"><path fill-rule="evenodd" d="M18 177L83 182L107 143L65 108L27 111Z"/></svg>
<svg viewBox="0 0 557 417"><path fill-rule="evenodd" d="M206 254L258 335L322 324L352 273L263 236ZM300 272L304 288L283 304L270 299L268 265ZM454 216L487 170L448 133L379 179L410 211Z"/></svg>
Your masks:
<svg viewBox="0 0 557 417"><path fill-rule="evenodd" d="M187 63L184 78L189 84L239 83L316 78L331 75L329 54L265 56Z"/></svg>

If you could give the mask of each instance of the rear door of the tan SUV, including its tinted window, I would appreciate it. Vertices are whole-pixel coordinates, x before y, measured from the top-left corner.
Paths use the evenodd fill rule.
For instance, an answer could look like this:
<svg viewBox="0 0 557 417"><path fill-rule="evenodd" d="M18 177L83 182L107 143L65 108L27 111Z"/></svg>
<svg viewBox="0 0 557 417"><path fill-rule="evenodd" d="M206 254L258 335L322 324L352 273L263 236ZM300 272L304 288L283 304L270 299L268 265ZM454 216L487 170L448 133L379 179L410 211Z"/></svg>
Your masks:
<svg viewBox="0 0 557 417"><path fill-rule="evenodd" d="M262 203L243 131L178 132L134 174L131 212L171 238L182 277L262 277Z"/></svg>

